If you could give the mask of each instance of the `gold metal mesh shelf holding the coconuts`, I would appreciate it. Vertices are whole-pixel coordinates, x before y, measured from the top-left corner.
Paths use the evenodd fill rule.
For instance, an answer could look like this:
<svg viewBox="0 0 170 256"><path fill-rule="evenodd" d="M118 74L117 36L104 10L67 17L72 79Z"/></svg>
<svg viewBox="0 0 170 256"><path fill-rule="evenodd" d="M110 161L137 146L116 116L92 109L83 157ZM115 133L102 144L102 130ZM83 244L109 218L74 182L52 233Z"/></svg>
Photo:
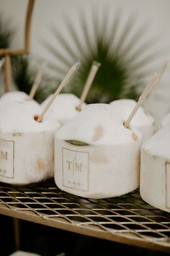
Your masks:
<svg viewBox="0 0 170 256"><path fill-rule="evenodd" d="M170 252L170 213L148 205L138 189L121 197L92 200L61 191L53 180L24 187L0 183L0 213Z"/></svg>

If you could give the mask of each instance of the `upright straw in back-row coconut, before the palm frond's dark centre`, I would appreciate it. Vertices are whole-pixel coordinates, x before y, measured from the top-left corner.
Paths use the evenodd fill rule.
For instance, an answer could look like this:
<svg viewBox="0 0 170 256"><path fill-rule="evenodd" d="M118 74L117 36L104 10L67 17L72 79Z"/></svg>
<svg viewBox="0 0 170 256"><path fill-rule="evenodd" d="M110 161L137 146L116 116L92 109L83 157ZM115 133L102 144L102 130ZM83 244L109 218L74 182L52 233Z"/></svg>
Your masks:
<svg viewBox="0 0 170 256"><path fill-rule="evenodd" d="M99 62L93 61L89 72L89 76L87 77L86 83L84 85L84 90L81 93L79 106L76 107L76 110L81 111L81 104L84 103L84 101L86 100L86 96L89 93L89 89L91 88L92 82L94 80L95 75L97 74L97 70L99 69L100 65L101 64Z"/></svg>

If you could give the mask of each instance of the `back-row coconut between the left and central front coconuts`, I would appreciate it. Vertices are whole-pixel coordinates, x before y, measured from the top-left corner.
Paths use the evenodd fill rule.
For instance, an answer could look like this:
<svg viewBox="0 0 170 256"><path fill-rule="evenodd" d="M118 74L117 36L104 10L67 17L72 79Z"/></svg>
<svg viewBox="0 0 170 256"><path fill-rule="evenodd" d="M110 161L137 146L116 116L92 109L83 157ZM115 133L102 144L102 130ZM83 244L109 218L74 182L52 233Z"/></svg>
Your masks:
<svg viewBox="0 0 170 256"><path fill-rule="evenodd" d="M45 101L42 102L42 109L45 108L48 101L53 97L50 95ZM76 109L79 106L80 99L71 93L60 93L55 98L55 101L50 106L47 116L52 116L61 124L65 124L68 120L79 114L79 111ZM86 103L83 103L81 108L85 108Z"/></svg>

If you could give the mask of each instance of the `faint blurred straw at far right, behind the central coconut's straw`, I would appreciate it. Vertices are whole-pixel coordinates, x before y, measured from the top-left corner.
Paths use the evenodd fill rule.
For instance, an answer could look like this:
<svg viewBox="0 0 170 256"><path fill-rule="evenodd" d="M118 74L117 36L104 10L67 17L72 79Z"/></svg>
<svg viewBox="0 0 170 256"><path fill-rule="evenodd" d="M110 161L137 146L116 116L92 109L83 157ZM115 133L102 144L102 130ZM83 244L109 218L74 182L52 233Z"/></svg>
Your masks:
<svg viewBox="0 0 170 256"><path fill-rule="evenodd" d="M148 114L148 109L151 106L151 102L153 102L153 99L156 96L156 92L158 90L158 85L161 82L161 79L163 77L163 74L164 74L166 68L168 67L168 64L169 64L169 59L166 59L166 61L164 62L164 65L163 65L163 67L162 67L162 69L161 69L161 71L159 73L158 81L156 82L156 85L153 87L153 89L152 89L152 91L150 93L150 96L148 98L148 101L146 102L146 106L144 108L146 114Z"/></svg>

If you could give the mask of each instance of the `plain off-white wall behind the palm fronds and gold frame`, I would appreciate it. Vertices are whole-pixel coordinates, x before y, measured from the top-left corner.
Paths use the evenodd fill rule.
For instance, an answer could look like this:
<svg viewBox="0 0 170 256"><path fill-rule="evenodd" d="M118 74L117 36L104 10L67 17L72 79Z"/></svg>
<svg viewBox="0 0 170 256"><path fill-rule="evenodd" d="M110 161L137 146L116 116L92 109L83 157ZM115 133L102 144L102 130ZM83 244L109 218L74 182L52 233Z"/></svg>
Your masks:
<svg viewBox="0 0 170 256"><path fill-rule="evenodd" d="M101 7L101 9L103 5L109 5L112 15L114 15L117 7L121 7L123 12L122 20L126 20L132 12L136 12L138 24L146 20L150 23L150 28L148 28L150 35L157 32L160 33L161 43L156 47L158 47L158 49L167 47L167 51L163 54L162 60L160 61L159 59L160 67L162 61L164 61L167 56L169 57L169 0L35 0L35 9L32 17L31 53L41 56L42 59L53 58L53 56L48 54L48 51L45 51L45 48L41 44L42 38L46 38L55 43L49 27L51 25L61 27L63 33L66 33L64 17L71 16L76 20L78 7L80 6L86 11L88 17L91 12L91 4ZM0 0L0 14L3 14L3 19L10 17L12 20L11 26L17 28L14 40L12 40L12 47L14 48L22 48L23 45L24 12L26 8L26 0ZM122 21L122 24L125 24L125 21ZM76 24L76 26L79 30L79 24ZM162 86L158 90L158 94L164 95L164 101L155 101L152 106L152 112L157 119L161 119L161 116L163 116L168 109L170 111L169 81L170 68L167 69Z"/></svg>

